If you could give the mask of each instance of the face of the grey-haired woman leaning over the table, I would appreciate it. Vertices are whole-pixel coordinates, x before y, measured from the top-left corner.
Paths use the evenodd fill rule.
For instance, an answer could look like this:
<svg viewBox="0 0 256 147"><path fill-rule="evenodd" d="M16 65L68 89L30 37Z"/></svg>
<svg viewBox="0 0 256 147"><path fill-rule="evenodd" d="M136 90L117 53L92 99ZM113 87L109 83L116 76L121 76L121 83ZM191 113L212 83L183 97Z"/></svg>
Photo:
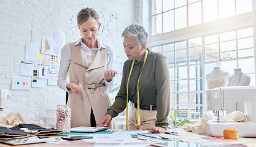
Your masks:
<svg viewBox="0 0 256 147"><path fill-rule="evenodd" d="M144 56L144 45L139 45L136 43L136 37L124 37L123 38L123 48L128 59L137 59L141 61Z"/></svg>

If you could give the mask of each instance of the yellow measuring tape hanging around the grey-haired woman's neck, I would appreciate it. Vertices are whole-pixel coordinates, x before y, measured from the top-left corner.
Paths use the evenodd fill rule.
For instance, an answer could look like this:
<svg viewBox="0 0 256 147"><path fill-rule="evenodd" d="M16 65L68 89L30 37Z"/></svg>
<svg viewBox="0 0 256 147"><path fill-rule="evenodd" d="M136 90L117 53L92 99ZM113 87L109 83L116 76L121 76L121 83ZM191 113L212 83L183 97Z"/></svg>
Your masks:
<svg viewBox="0 0 256 147"><path fill-rule="evenodd" d="M142 66L142 70L144 68L144 65L145 65L145 61L147 60L147 54L149 53L149 51L145 50L145 58L144 58L144 63L143 63L143 66ZM129 88L129 80L130 80L130 77L131 77L131 72L133 71L133 66L134 66L134 62L135 62L135 59L133 59L133 62L131 63L131 69L130 69L130 73L129 73L129 77L128 77L128 81L127 81L127 89L126 89L126 95L127 95L127 99L126 99L126 130L128 130L128 88ZM141 70L141 74L142 74L142 70ZM139 79L141 78L141 74L139 75ZM138 84L137 84L137 91L138 91L138 126L141 126L141 117L139 115L139 79L138 79Z"/></svg>

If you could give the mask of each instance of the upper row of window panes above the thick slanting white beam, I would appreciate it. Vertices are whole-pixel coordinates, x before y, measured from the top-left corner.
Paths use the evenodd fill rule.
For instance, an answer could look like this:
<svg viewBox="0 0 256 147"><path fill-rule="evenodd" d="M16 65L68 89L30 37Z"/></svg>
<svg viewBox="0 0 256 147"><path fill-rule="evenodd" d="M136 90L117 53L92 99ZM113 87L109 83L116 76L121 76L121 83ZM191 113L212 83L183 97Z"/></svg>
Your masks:
<svg viewBox="0 0 256 147"><path fill-rule="evenodd" d="M152 0L152 36L252 12L251 0Z"/></svg>

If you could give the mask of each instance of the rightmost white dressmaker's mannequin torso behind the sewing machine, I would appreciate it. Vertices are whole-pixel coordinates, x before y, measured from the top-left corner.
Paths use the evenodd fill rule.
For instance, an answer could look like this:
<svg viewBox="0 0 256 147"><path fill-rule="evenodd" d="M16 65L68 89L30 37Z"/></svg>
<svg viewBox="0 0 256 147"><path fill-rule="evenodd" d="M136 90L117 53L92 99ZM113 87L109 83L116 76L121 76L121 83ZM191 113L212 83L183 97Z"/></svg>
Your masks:
<svg viewBox="0 0 256 147"><path fill-rule="evenodd" d="M250 77L242 73L241 69L234 69L234 74L228 78L228 86L249 86Z"/></svg>

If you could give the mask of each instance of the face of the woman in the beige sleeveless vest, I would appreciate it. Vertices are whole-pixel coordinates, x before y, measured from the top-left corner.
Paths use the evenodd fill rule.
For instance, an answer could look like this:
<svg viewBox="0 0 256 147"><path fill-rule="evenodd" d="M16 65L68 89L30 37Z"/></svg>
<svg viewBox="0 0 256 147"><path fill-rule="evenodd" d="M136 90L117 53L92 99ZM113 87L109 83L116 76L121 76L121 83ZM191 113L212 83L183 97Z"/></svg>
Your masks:
<svg viewBox="0 0 256 147"><path fill-rule="evenodd" d="M96 42L96 37L100 26L101 24L98 24L95 19L89 18L87 21L84 21L80 27L78 26L78 28L82 33L85 42L91 44Z"/></svg>

